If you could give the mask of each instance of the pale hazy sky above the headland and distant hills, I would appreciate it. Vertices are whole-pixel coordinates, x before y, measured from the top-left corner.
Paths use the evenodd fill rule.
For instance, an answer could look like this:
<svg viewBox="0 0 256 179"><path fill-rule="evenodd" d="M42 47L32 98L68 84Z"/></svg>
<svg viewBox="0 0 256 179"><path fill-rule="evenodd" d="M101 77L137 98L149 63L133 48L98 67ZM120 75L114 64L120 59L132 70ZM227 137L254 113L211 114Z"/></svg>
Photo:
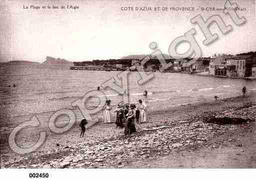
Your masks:
<svg viewBox="0 0 256 179"><path fill-rule="evenodd" d="M0 61L28 60L43 62L46 56L69 61L121 58L131 54L150 54L151 42L157 42L168 54L170 43L195 28L195 38L203 56L215 53L237 54L256 51L255 0L232 0L246 11L239 11L247 22L237 26L229 15L201 11L201 7L223 7L225 0L0 0ZM40 9L30 8L40 6ZM43 9L42 6L77 5L78 9ZM28 9L24 8L28 6ZM129 11L122 7L195 7L186 11ZM222 34L211 25L219 39L204 45L203 32L190 19L201 14L206 20L220 15L233 31ZM187 43L178 48L188 50Z"/></svg>

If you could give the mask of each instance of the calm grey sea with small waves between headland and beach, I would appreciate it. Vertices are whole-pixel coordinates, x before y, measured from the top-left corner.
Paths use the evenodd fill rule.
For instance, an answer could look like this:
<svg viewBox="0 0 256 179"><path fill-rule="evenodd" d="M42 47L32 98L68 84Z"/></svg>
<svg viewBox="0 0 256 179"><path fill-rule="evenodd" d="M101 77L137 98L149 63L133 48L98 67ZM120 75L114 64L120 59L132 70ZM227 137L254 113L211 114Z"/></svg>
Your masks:
<svg viewBox="0 0 256 179"><path fill-rule="evenodd" d="M70 70L67 65L12 64L0 66L0 119L39 114L60 109L72 109L72 102L97 86L116 78L120 71ZM128 73L128 72L124 72ZM148 72L149 73L149 72ZM140 85L138 72L128 74L130 103L146 102L148 110L208 102L242 95L243 86L248 92L256 90L256 80L218 78L181 73L153 72L154 76ZM13 87L15 84L15 87ZM117 80L116 84L121 85ZM144 98L143 91L148 91ZM111 88L102 88L113 108L122 96ZM95 108L98 98L86 101L85 106ZM112 113L114 110L112 110Z"/></svg>

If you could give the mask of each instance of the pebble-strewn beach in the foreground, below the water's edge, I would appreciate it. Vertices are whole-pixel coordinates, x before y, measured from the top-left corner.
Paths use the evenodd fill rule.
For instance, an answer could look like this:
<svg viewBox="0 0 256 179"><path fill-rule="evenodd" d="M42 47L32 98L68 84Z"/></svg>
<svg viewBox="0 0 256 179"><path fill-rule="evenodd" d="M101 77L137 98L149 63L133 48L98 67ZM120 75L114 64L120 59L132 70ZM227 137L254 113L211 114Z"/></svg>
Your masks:
<svg viewBox="0 0 256 179"><path fill-rule="evenodd" d="M225 125L202 121L204 116L226 113L252 121ZM16 155L1 143L1 168L256 167L254 92L151 110L148 116L148 122L137 125L137 132L129 141L114 123L99 122L86 130L84 138L79 136L78 125L63 134L47 131L45 143L25 156ZM44 129L22 131L16 140L31 145L38 140L35 134L40 130ZM248 136L251 137L243 140ZM8 131L1 131L1 141L7 141L7 137Z"/></svg>

